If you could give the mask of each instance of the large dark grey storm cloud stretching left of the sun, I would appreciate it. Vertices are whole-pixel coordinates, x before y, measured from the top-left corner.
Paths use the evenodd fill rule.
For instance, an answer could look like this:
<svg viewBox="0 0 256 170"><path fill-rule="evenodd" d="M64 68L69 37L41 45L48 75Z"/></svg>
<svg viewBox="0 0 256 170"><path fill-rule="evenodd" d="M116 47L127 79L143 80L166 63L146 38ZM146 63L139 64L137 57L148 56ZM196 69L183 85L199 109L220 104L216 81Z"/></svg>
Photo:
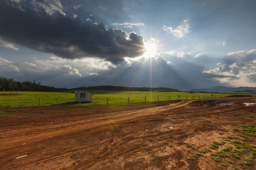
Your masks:
<svg viewBox="0 0 256 170"><path fill-rule="evenodd" d="M67 59L98 57L118 63L144 53L143 37L83 23L55 12L32 10L0 1L0 39Z"/></svg>

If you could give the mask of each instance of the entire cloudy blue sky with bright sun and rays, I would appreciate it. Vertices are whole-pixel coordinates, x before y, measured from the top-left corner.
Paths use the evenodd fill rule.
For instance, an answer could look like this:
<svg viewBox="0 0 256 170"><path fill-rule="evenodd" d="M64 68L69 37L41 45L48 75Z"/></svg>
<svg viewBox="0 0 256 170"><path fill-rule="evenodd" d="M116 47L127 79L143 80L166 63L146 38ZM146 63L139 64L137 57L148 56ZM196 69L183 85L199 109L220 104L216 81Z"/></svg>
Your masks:
<svg viewBox="0 0 256 170"><path fill-rule="evenodd" d="M0 0L0 76L95 85L256 87L255 0Z"/></svg>

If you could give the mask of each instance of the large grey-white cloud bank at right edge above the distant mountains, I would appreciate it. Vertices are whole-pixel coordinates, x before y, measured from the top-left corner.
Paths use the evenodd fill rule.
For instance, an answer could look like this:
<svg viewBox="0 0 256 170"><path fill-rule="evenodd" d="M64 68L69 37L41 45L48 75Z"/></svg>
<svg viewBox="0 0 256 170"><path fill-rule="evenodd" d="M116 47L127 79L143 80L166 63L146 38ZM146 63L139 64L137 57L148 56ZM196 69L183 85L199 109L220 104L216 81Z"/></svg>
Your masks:
<svg viewBox="0 0 256 170"><path fill-rule="evenodd" d="M205 73L213 75L223 75L224 77L232 76L238 79L235 82L230 81L233 85L245 82L256 82L256 49L251 51L230 52L223 57L223 64L218 63L219 68L205 70ZM231 79L232 80L232 79Z"/></svg>

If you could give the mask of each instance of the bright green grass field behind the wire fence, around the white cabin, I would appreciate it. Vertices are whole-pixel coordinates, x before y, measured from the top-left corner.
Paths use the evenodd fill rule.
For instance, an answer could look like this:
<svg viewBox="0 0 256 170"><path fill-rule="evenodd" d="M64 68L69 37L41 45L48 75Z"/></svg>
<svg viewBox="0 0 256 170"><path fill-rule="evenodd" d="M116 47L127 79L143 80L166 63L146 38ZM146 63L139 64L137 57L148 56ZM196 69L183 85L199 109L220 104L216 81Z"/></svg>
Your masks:
<svg viewBox="0 0 256 170"><path fill-rule="evenodd" d="M186 93L186 92L128 92L128 91L93 91L91 103L81 103L86 106L117 107L128 104L151 104L163 101L198 100L222 98L228 94L216 93ZM179 97L180 96L180 97ZM128 103L129 97L129 103ZM146 102L145 102L146 97ZM17 108L50 105L79 105L74 102L74 94L71 92L0 92L0 108ZM108 99L108 104L107 104Z"/></svg>

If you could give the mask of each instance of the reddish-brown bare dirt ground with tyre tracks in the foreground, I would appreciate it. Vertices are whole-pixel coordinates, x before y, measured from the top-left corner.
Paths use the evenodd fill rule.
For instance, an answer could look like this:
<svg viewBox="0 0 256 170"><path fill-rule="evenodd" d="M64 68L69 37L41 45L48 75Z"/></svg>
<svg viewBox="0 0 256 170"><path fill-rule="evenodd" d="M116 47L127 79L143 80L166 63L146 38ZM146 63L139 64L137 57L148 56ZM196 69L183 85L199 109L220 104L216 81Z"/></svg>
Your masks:
<svg viewBox="0 0 256 170"><path fill-rule="evenodd" d="M210 153L187 158L255 124L256 106L243 105L251 99L0 109L9 113L0 114L0 169L209 170L218 165Z"/></svg>

